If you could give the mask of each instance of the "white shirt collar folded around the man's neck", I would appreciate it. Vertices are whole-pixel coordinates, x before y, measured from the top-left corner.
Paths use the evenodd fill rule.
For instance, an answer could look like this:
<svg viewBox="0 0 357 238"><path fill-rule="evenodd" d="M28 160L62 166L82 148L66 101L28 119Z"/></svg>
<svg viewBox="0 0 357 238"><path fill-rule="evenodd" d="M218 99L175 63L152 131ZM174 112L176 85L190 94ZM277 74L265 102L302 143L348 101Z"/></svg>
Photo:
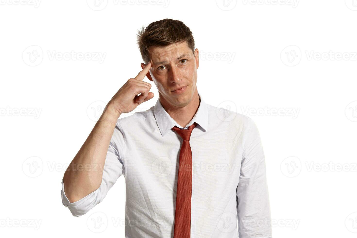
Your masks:
<svg viewBox="0 0 357 238"><path fill-rule="evenodd" d="M198 93L198 97L200 98L200 106L198 106L198 110L193 116L192 120L187 124L187 126L191 126L194 122L196 122L203 130L207 131L208 126L208 110L207 104L203 101L202 96ZM178 125L174 119L166 112L164 107L160 102L160 98L157 99L156 104L154 106L154 114L157 126L161 132L161 135L164 136L168 130L171 130L172 127L177 126L182 128L182 126ZM186 126L186 127L187 127Z"/></svg>

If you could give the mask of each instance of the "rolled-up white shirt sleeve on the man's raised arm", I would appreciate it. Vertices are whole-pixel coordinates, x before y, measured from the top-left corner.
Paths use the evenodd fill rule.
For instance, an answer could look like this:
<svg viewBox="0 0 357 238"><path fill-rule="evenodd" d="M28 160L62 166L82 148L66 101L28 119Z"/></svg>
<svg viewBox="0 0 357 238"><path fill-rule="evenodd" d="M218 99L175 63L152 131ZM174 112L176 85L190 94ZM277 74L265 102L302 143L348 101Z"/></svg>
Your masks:
<svg viewBox="0 0 357 238"><path fill-rule="evenodd" d="M69 202L64 192L64 183L62 179L62 203L64 206L69 208L73 216L82 216L94 206L96 206L98 203L103 201L109 189L115 184L117 179L125 173L124 164L121 159L124 155L125 139L124 135L119 130L118 123L114 129L114 133L111 138L110 145L108 147L100 187L96 191L85 196L84 198L81 198L80 200L71 203Z"/></svg>

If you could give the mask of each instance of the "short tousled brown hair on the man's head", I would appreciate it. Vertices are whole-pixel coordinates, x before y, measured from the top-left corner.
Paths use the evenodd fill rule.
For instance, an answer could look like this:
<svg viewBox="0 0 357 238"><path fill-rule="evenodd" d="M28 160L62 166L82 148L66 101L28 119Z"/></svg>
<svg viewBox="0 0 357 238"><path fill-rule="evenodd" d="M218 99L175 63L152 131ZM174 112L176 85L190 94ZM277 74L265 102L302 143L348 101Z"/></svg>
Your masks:
<svg viewBox="0 0 357 238"><path fill-rule="evenodd" d="M138 32L136 35L137 44L145 64L150 61L149 48L151 46L167 46L186 41L192 52L195 52L195 40L193 40L192 32L182 21L163 19L151 22L145 30L143 26Z"/></svg>

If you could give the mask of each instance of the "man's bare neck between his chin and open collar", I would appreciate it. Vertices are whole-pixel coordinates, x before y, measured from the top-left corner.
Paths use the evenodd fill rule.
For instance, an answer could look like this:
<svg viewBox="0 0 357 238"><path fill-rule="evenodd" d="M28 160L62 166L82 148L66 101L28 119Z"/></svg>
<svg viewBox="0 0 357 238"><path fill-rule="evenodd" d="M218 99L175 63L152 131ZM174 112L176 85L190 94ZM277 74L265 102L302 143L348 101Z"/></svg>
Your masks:
<svg viewBox="0 0 357 238"><path fill-rule="evenodd" d="M198 106L200 106L200 97L198 96L197 90L193 95L192 100L183 107L173 106L167 101L162 100L161 97L159 98L162 107L165 108L165 111L178 123L178 125L182 127L187 126L187 124L195 116Z"/></svg>

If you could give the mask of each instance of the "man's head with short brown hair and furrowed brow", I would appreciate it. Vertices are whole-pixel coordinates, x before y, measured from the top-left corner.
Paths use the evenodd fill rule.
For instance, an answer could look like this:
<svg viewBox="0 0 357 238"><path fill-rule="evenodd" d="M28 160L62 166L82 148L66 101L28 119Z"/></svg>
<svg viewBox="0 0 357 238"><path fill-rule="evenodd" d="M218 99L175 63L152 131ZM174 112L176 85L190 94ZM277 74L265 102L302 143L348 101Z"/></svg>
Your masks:
<svg viewBox="0 0 357 238"><path fill-rule="evenodd" d="M164 19L142 28L137 43L145 64L151 63L146 75L159 91L160 99L183 107L197 93L198 49L191 30L182 21ZM183 92L175 91L184 88Z"/></svg>

